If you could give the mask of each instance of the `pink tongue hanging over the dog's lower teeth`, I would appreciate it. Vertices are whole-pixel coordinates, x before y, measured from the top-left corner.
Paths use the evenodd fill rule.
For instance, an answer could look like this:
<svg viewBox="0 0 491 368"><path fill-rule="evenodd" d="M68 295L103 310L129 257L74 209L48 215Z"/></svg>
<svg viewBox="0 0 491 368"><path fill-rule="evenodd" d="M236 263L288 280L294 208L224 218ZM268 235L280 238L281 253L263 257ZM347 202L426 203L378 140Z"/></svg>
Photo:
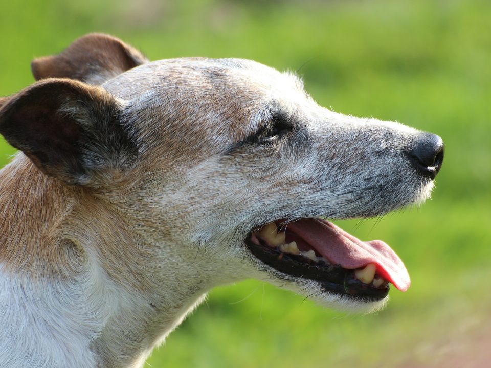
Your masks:
<svg viewBox="0 0 491 368"><path fill-rule="evenodd" d="M321 219L303 218L289 222L286 229L287 233L295 233L332 264L354 269L375 263L377 274L400 291L406 291L411 284L403 261L381 240L363 242Z"/></svg>

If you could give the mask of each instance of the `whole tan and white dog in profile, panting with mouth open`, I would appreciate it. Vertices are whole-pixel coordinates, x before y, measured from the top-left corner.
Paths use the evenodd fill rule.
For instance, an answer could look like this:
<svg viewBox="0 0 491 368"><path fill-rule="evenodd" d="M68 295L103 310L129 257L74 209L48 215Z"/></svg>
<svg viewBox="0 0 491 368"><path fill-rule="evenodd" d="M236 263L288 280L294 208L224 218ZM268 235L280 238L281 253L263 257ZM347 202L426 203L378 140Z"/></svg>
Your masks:
<svg viewBox="0 0 491 368"><path fill-rule="evenodd" d="M320 107L242 59L149 62L88 34L0 100L0 366L139 367L217 285L369 312L410 280L327 219L427 199L437 135Z"/></svg>

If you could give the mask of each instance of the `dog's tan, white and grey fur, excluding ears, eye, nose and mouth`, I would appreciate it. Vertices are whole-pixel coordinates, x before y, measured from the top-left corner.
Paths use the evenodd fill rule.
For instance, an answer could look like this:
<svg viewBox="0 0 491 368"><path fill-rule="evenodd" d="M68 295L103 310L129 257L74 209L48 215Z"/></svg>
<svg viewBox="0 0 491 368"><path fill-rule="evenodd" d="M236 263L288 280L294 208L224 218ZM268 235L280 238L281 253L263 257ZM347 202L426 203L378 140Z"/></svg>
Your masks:
<svg viewBox="0 0 491 368"><path fill-rule="evenodd" d="M254 61L134 59L142 65L113 79L101 68L82 76L104 82L135 149L127 166L99 147L82 186L46 176L23 153L0 172L0 366L142 366L208 290L245 278L327 307L384 305L280 274L244 239L279 218L374 216L425 200L433 184L407 156L418 131L320 107L297 76ZM10 102L0 101L1 116ZM95 126L86 108L63 105ZM248 140L275 117L286 132Z"/></svg>

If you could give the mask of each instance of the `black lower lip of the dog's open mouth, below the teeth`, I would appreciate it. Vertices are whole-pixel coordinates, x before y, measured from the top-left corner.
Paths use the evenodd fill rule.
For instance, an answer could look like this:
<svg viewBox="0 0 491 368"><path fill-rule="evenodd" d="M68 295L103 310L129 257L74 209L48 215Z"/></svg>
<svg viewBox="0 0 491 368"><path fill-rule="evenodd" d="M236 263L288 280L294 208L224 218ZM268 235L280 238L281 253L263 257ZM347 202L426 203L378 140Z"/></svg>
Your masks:
<svg viewBox="0 0 491 368"><path fill-rule="evenodd" d="M354 270L282 253L264 244L257 245L250 239L251 233L245 239L245 245L259 261L287 275L318 281L327 292L363 302L383 300L389 293L389 285L376 288L355 279Z"/></svg>

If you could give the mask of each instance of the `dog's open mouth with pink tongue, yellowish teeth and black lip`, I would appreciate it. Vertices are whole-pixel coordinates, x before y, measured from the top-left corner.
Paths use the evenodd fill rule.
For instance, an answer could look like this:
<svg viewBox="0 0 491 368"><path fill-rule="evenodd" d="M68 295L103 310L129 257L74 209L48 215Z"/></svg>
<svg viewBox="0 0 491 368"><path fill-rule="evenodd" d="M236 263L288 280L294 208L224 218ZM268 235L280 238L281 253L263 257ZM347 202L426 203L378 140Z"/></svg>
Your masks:
<svg viewBox="0 0 491 368"><path fill-rule="evenodd" d="M357 300L378 301L387 296L389 283L400 291L411 283L386 243L363 242L322 219L277 220L253 229L245 243L264 264Z"/></svg>

